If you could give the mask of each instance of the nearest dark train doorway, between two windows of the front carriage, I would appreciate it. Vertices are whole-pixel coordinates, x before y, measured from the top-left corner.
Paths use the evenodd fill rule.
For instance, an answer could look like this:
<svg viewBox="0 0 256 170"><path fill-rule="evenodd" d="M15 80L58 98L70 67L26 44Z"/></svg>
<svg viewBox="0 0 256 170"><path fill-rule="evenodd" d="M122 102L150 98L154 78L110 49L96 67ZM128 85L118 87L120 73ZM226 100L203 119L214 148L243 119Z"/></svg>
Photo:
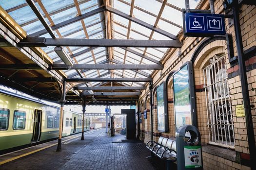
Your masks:
<svg viewBox="0 0 256 170"><path fill-rule="evenodd" d="M33 123L33 135L31 141L39 141L41 133L41 116L42 111L35 109L34 111L34 123Z"/></svg>

